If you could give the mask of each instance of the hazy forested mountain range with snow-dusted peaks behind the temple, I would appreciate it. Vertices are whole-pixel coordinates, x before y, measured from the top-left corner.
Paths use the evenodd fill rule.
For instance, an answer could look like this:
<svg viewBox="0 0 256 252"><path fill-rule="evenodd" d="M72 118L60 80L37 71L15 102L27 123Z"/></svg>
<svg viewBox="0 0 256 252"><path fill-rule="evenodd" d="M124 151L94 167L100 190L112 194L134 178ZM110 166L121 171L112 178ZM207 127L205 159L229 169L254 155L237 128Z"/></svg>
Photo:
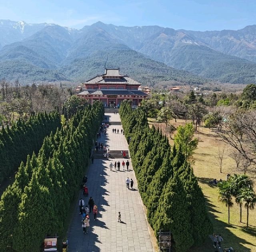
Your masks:
<svg viewBox="0 0 256 252"><path fill-rule="evenodd" d="M256 26L195 32L97 22L78 30L0 20L0 79L80 82L106 67L151 86L254 83Z"/></svg>

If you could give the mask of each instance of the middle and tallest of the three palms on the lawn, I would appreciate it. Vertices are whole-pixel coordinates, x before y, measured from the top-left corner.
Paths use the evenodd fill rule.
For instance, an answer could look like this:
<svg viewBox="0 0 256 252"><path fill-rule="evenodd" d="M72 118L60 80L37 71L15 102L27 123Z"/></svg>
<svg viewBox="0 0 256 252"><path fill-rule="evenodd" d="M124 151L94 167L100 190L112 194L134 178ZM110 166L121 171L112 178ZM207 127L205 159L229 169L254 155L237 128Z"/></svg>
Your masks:
<svg viewBox="0 0 256 252"><path fill-rule="evenodd" d="M239 191L242 188L253 188L254 182L246 174L234 174L229 178L229 183L232 186L232 195L235 197L235 201L240 205L240 222L242 222L242 203L238 200Z"/></svg>

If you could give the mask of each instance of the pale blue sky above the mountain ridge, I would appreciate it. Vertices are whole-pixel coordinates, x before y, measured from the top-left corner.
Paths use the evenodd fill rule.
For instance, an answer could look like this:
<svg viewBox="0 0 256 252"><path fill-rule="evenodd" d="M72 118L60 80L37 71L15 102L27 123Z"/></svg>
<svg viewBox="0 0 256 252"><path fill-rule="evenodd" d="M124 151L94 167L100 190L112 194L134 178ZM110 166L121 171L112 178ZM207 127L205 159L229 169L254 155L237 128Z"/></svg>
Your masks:
<svg viewBox="0 0 256 252"><path fill-rule="evenodd" d="M82 28L117 26L238 30L256 24L256 0L0 0L0 19Z"/></svg>

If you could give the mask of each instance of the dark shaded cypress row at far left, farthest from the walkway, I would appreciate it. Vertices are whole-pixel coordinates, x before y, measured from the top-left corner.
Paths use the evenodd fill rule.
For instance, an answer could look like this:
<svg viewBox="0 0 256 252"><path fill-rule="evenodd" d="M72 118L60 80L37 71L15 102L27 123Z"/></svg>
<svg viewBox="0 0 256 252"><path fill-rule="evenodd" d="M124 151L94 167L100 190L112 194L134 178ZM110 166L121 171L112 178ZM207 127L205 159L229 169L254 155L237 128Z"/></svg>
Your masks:
<svg viewBox="0 0 256 252"><path fill-rule="evenodd" d="M38 153L44 137L60 127L60 115L38 113L27 121L18 119L12 127L0 130L0 183L17 171L28 154Z"/></svg>

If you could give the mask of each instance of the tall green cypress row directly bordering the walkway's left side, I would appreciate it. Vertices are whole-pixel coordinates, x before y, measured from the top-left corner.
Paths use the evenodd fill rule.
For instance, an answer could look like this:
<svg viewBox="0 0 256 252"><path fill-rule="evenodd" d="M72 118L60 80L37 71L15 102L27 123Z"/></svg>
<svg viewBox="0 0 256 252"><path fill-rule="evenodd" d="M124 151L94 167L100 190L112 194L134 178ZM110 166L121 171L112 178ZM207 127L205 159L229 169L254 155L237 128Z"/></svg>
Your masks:
<svg viewBox="0 0 256 252"><path fill-rule="evenodd" d="M81 108L21 163L0 201L0 251L39 251L46 234L62 231L103 115L100 102Z"/></svg>

